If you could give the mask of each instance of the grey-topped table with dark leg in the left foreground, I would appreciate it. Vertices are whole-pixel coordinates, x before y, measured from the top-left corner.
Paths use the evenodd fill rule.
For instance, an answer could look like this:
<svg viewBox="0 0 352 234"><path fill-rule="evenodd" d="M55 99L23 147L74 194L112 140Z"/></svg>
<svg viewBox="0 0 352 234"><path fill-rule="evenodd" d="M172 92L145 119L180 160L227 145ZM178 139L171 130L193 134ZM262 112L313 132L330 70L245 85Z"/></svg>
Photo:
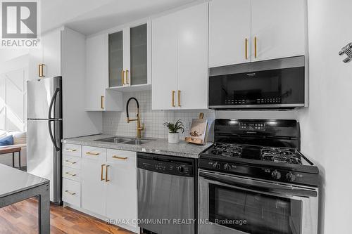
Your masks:
<svg viewBox="0 0 352 234"><path fill-rule="evenodd" d="M26 200L38 198L39 233L50 233L49 181L25 171L0 164L0 208Z"/></svg>

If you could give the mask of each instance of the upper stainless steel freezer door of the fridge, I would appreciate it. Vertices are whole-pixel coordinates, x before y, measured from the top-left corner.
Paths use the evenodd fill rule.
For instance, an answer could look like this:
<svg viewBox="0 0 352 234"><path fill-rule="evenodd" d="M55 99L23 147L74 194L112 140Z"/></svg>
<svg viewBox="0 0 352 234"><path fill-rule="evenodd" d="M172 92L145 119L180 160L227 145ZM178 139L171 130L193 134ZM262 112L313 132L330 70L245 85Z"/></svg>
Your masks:
<svg viewBox="0 0 352 234"><path fill-rule="evenodd" d="M61 119L61 77L34 79L27 82L27 119Z"/></svg>

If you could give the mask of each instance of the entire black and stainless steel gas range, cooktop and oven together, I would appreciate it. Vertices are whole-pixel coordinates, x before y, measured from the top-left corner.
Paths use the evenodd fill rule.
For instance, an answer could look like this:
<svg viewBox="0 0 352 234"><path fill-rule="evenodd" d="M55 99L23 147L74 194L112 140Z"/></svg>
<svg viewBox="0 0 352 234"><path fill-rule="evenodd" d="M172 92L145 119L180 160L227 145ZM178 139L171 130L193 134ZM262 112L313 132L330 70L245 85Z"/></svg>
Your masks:
<svg viewBox="0 0 352 234"><path fill-rule="evenodd" d="M318 234L319 170L296 120L216 119L199 158L202 234Z"/></svg>

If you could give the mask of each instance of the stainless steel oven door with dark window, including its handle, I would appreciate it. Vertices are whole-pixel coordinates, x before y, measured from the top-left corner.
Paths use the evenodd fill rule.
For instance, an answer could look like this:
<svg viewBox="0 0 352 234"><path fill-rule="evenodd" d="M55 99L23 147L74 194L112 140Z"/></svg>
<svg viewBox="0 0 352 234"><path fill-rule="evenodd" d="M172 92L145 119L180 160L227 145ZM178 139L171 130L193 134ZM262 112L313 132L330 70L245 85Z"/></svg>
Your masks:
<svg viewBox="0 0 352 234"><path fill-rule="evenodd" d="M318 190L200 170L199 233L317 234Z"/></svg>

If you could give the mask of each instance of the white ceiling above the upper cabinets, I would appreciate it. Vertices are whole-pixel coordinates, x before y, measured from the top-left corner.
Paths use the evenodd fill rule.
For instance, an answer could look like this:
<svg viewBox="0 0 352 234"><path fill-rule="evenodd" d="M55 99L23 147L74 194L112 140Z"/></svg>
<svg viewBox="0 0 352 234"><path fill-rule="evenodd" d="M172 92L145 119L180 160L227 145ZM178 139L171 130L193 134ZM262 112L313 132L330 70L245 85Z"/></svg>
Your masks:
<svg viewBox="0 0 352 234"><path fill-rule="evenodd" d="M139 20L197 0L45 0L42 32L67 25L82 34Z"/></svg>

